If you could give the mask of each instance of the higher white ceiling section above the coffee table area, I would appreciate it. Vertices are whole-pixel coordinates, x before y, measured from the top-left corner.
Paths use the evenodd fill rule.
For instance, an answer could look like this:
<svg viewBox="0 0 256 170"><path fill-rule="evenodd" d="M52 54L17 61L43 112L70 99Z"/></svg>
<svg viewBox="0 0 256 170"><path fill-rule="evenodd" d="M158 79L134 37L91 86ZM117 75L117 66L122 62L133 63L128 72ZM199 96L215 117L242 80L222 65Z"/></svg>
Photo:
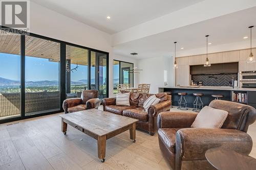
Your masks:
<svg viewBox="0 0 256 170"><path fill-rule="evenodd" d="M203 0L31 0L60 14L114 34ZM106 19L111 16L111 19Z"/></svg>

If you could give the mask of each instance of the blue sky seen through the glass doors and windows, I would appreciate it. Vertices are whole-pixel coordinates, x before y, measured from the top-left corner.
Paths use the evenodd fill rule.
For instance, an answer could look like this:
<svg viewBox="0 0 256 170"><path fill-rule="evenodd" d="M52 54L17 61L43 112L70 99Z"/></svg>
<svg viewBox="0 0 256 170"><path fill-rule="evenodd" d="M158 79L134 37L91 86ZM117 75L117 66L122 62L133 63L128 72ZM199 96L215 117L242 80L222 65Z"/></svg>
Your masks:
<svg viewBox="0 0 256 170"><path fill-rule="evenodd" d="M0 77L10 80L20 79L20 56L0 53ZM25 58L25 79L26 81L58 80L59 64L48 59L28 57ZM71 64L71 69L76 64ZM92 70L93 68L91 68ZM78 65L77 71L71 72L71 81L84 80L87 78L88 66ZM104 69L105 74L105 69ZM114 78L119 78L119 71L114 66ZM117 76L116 76L117 75ZM95 72L91 71L91 77L95 77Z"/></svg>

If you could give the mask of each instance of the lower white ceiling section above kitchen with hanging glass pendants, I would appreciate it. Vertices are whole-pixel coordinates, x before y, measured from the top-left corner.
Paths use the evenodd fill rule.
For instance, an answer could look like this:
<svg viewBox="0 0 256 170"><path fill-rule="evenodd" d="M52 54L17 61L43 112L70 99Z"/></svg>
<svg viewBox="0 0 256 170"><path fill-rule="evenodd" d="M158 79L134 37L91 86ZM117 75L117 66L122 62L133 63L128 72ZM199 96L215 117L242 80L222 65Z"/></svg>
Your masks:
<svg viewBox="0 0 256 170"><path fill-rule="evenodd" d="M136 59L170 56L174 53L173 42L178 41L178 54L186 54L185 51L206 48L206 34L210 35L208 39L212 42L209 45L209 52L212 51L213 46L241 41L249 47L249 39L243 39L243 37L249 36L248 26L251 25L256 26L256 7L122 43L114 47L114 53L129 56L130 53L135 52L139 54L133 56ZM252 39L256 39L256 27L254 27ZM256 42L252 45L256 46ZM181 47L184 47L184 50L181 50Z"/></svg>

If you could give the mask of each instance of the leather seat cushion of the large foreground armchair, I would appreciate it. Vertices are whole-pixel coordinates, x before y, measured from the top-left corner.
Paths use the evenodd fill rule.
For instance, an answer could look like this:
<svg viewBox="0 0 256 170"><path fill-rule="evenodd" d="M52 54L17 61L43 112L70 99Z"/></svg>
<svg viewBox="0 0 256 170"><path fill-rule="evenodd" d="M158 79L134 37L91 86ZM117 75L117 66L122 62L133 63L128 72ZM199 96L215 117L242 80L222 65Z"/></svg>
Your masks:
<svg viewBox="0 0 256 170"><path fill-rule="evenodd" d="M176 132L182 128L159 128L158 136L170 152L175 153Z"/></svg>

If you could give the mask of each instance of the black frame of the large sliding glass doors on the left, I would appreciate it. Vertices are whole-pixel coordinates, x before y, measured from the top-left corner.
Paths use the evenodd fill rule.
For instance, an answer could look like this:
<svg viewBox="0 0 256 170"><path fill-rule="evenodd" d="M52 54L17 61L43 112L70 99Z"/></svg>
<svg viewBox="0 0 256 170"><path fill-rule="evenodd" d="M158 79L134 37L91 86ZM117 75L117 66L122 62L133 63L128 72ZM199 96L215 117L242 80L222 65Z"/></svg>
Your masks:
<svg viewBox="0 0 256 170"><path fill-rule="evenodd" d="M12 33L15 34L20 34L20 116L18 117L11 117L11 118L4 118L0 119L0 124L8 123L8 122L14 122L18 120L23 120L27 118L33 118L33 117L39 117L39 116L44 116L44 115L49 115L49 114L55 114L55 113L60 113L63 112L62 108L62 103L66 99L66 45L71 45L71 46L76 46L79 48L84 48L88 50L88 61L91 60L91 51L93 52L98 52L106 55L106 78L107 78L107 86L108 88L106 89L106 95L109 97L109 53L104 52L101 50L97 50L94 48L50 38L47 36L42 36L34 33L24 33L20 30L16 30L13 28L5 27L0 25L0 31L2 30L10 30ZM51 112L45 112L45 113L40 113L40 114L33 114L33 115L27 115L25 116L25 35L36 37L36 38L41 38L45 40L50 40L54 41L60 44L60 71L59 71L59 89L60 89L60 108L57 111L51 111ZM90 64L88 64L88 85L91 83L90 79ZM88 86L89 87L89 86Z"/></svg>

